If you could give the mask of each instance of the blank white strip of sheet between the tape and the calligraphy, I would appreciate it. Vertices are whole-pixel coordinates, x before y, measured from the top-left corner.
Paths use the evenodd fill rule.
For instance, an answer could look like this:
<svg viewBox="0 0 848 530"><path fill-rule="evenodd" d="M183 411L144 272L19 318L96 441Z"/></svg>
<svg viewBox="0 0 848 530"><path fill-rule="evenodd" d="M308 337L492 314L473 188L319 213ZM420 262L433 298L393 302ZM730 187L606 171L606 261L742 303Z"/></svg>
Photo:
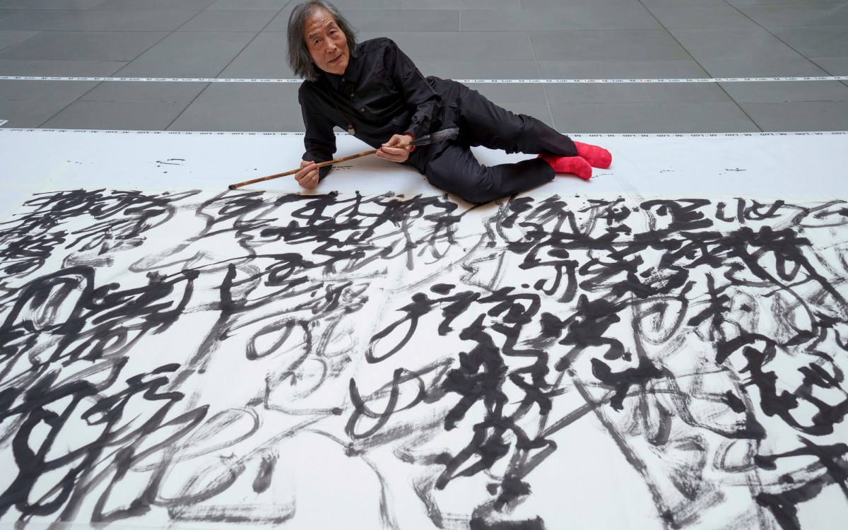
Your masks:
<svg viewBox="0 0 848 530"><path fill-rule="evenodd" d="M848 134L574 135L614 154L592 181L561 176L533 193L610 197L845 198ZM369 149L337 137L339 157ZM483 163L526 158L476 148ZM67 186L226 190L298 166L303 137L280 133L19 131L0 129L0 171L11 190ZM316 193L435 194L416 170L368 157L342 164ZM301 192L293 177L248 191ZM14 208L20 202L7 205Z"/></svg>

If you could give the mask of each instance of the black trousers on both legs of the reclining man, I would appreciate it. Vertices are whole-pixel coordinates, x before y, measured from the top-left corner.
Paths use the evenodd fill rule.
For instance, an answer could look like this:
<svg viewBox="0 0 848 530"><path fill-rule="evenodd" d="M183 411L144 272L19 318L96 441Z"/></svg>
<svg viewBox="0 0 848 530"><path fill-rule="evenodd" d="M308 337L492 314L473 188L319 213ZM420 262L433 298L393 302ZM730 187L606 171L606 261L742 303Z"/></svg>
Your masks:
<svg viewBox="0 0 848 530"><path fill-rule="evenodd" d="M444 82L444 81L443 81ZM449 81L454 82L454 81ZM543 159L487 167L471 147L503 149L507 153L552 153L577 156L574 142L542 121L513 114L462 86L453 105L460 136L447 142L424 166L427 181L471 203L486 203L554 180L554 170Z"/></svg>

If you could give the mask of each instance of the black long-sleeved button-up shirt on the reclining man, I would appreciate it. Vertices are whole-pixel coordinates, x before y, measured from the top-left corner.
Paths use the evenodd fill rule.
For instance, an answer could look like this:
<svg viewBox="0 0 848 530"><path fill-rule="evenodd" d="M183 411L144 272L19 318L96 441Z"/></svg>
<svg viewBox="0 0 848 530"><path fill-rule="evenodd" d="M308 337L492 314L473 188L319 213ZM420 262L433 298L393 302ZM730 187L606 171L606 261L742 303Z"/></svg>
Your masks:
<svg viewBox="0 0 848 530"><path fill-rule="evenodd" d="M343 75L321 72L317 81L304 81L298 92L304 115L304 160L332 160L336 152L333 126L379 148L395 134L418 138L440 125L443 95L438 78L426 78L388 38L361 42L351 53ZM408 163L422 170L420 150ZM319 170L321 178L329 167Z"/></svg>

